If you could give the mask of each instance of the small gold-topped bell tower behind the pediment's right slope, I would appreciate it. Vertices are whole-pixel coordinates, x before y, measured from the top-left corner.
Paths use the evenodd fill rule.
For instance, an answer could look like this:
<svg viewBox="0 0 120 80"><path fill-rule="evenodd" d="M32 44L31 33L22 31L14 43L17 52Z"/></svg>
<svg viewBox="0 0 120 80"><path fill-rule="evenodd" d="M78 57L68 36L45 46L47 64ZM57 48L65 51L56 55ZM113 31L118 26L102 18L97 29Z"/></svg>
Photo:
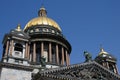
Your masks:
<svg viewBox="0 0 120 80"><path fill-rule="evenodd" d="M95 58L95 61L109 69L110 71L118 74L118 68L116 66L116 58L109 53L105 52L103 48L100 49L100 53Z"/></svg>

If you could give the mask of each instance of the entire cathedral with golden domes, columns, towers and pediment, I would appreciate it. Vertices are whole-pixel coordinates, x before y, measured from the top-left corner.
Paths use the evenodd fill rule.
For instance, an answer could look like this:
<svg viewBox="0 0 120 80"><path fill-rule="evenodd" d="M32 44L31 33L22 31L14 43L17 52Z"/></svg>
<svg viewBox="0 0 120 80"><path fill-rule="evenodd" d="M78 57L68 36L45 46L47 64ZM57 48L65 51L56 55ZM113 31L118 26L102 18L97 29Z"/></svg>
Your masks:
<svg viewBox="0 0 120 80"><path fill-rule="evenodd" d="M41 7L38 17L4 35L0 80L120 80L116 58L100 49L95 59L70 64L72 47Z"/></svg>

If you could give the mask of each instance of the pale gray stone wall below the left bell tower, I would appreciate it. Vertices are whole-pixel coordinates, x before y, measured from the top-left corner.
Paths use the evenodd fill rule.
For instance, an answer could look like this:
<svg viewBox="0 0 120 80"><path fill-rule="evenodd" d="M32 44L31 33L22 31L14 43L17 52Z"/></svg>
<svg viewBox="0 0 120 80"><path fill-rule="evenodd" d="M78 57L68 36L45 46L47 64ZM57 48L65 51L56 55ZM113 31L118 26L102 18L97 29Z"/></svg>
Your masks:
<svg viewBox="0 0 120 80"><path fill-rule="evenodd" d="M0 80L31 80L31 72L25 70L2 68Z"/></svg>

